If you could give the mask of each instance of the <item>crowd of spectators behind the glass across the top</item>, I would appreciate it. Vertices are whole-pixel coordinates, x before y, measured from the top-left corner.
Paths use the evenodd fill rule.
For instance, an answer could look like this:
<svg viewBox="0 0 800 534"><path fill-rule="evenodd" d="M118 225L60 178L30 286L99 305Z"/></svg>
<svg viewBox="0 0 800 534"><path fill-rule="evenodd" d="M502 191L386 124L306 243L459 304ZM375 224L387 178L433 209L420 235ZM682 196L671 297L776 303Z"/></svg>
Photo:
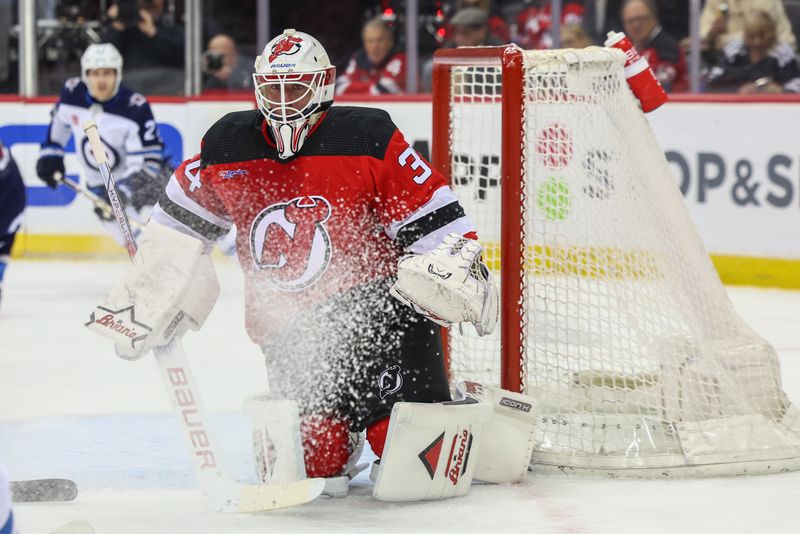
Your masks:
<svg viewBox="0 0 800 534"><path fill-rule="evenodd" d="M5 93L18 87L16 4L0 1L0 92ZM270 3L272 33L295 27L316 35L337 67L337 94L406 92L405 2L288 4ZM83 48L99 41L120 50L131 87L145 94L181 94L183 8L178 0L37 0L40 93L56 93L77 73ZM204 90L252 87L253 58L263 46L255 42L255 12L255 0L204 0ZM516 43L547 49L556 40L550 0L420 0L418 20L422 92L430 90L437 48ZM624 31L667 91L688 90L689 0L563 0L560 22L560 47L602 45L607 32ZM705 0L702 90L800 92L798 28L800 0Z"/></svg>

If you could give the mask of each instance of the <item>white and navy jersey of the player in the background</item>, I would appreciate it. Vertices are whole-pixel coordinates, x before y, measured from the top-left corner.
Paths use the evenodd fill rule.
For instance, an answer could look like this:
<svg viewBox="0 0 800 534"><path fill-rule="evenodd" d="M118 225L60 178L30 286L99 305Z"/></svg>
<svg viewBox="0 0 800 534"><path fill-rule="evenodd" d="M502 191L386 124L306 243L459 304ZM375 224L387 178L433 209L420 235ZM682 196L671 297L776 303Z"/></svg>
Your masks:
<svg viewBox="0 0 800 534"><path fill-rule="evenodd" d="M145 164L155 165L162 160L163 142L147 99L121 85L114 98L96 102L80 78L70 78L64 83L40 156L63 156L72 135L87 185L103 185L83 132L83 124L89 119L97 123L116 178L127 178Z"/></svg>

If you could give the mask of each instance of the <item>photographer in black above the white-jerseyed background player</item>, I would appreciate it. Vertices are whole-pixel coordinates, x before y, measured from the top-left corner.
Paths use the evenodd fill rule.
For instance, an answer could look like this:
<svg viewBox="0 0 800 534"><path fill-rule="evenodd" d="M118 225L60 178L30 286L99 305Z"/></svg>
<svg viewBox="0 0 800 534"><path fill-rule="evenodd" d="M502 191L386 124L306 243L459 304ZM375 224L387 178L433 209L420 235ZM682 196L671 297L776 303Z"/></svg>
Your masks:
<svg viewBox="0 0 800 534"><path fill-rule="evenodd" d="M127 83L133 89L182 91L184 31L167 24L164 0L117 0L108 8L108 18L111 24L104 30L103 42L122 54Z"/></svg>

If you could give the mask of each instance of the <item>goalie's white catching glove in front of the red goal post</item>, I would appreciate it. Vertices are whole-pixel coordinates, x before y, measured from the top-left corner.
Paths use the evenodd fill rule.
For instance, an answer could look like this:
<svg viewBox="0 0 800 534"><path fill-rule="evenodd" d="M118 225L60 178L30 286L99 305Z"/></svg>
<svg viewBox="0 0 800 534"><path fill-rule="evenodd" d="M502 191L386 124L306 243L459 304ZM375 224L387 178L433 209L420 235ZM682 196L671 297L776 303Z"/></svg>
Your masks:
<svg viewBox="0 0 800 534"><path fill-rule="evenodd" d="M467 321L478 335L491 334L499 297L482 251L474 239L450 234L431 252L402 257L389 292L442 326Z"/></svg>

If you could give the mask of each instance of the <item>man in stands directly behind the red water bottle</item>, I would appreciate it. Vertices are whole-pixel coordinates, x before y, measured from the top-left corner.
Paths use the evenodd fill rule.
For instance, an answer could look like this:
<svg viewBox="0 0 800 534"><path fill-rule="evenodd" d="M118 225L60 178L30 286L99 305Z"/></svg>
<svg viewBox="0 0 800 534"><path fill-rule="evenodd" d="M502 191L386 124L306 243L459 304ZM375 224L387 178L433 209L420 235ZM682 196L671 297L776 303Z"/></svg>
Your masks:
<svg viewBox="0 0 800 534"><path fill-rule="evenodd" d="M625 0L622 24L636 50L642 54L667 92L688 87L686 59L678 41L658 23L654 0Z"/></svg>

